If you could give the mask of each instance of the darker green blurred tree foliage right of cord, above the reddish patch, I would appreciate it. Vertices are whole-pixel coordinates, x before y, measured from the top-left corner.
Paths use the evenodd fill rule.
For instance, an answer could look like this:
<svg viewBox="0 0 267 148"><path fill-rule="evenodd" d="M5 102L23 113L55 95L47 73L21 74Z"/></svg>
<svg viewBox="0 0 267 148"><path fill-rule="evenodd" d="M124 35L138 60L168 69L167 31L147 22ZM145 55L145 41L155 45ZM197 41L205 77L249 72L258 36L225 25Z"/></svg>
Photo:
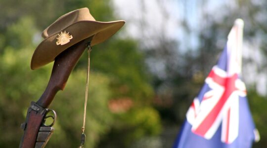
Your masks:
<svg viewBox="0 0 267 148"><path fill-rule="evenodd" d="M152 97L153 90L148 83L144 58L137 51L136 41L118 39L108 43L93 47L92 69L110 74L114 98L128 96L144 103L144 98Z"/></svg>

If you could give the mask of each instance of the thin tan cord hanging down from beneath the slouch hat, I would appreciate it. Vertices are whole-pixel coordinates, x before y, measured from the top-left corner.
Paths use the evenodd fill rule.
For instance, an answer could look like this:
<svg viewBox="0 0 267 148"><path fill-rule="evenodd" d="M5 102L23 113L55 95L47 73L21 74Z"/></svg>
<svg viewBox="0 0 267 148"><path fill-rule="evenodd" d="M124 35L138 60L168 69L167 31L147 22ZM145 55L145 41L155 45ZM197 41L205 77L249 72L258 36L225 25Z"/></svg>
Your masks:
<svg viewBox="0 0 267 148"><path fill-rule="evenodd" d="M88 99L88 85L89 85L89 72L90 72L90 52L92 50L90 46L90 42L87 44L88 49L88 69L87 69L87 79L86 79L86 95L85 95L85 111L84 111L84 123L82 126L82 135L81 135L81 146L79 148L84 148L85 144L85 124L86 124L86 107L87 107L87 99Z"/></svg>

